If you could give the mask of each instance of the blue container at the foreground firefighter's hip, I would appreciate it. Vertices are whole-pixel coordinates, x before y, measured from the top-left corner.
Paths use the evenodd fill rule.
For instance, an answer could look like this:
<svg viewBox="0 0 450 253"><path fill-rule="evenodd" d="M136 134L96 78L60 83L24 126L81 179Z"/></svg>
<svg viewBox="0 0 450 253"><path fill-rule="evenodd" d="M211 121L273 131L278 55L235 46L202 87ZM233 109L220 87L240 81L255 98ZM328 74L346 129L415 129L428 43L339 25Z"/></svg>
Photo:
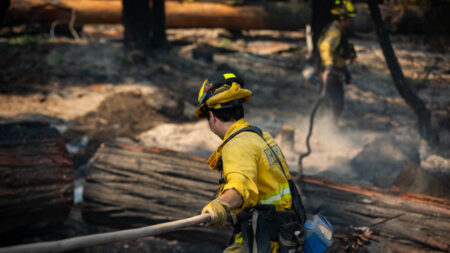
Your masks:
<svg viewBox="0 0 450 253"><path fill-rule="evenodd" d="M333 242L334 229L325 217L314 215L305 222L305 253L322 253Z"/></svg>

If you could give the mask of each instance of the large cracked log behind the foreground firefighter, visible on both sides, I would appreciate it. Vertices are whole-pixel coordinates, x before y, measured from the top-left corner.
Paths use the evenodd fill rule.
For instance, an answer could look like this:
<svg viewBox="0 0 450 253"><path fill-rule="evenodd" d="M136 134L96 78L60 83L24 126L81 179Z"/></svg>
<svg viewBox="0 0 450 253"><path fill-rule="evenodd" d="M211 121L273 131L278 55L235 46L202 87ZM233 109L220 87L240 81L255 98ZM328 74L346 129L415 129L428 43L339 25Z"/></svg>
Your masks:
<svg viewBox="0 0 450 253"><path fill-rule="evenodd" d="M200 157L104 143L89 165L83 217L92 223L127 228L193 216L212 198L218 177ZM314 177L304 177L300 185L308 214L323 214L338 231L350 225L370 226L402 214L376 227L378 238L388 242L386 247L407 244L448 249L449 200ZM229 238L226 233L198 228L165 237L223 246Z"/></svg>

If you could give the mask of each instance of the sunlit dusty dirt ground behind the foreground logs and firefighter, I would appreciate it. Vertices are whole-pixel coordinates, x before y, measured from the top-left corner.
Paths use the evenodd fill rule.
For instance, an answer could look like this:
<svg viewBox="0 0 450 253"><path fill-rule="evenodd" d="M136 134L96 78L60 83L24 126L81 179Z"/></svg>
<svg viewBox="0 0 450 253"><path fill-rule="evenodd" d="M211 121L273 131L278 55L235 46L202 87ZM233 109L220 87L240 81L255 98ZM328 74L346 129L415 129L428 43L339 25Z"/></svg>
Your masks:
<svg viewBox="0 0 450 253"><path fill-rule="evenodd" d="M120 26L85 26L81 35L81 40L50 39L21 26L4 29L0 36L0 122L40 120L56 127L73 155L77 186L82 186L89 158L106 139L207 157L220 140L209 132L206 121L196 121L192 114L202 81L220 69L240 72L252 90L246 105L251 124L279 141L282 126L293 127L293 145L282 143L282 148L291 170L297 170L298 157L306 151L309 114L319 97L319 87L306 85L300 74L307 53L302 31L236 34L223 29L171 29L167 52L148 56L123 50ZM358 58L349 66L353 81L345 86L344 112L336 126L324 110L319 111L312 154L303 160L303 173L376 185L358 174L352 161L367 145L387 138L413 147L421 169L448 179L448 50L431 48L419 36L395 35L392 41L409 84L432 113L438 142L421 145L416 117L394 87L375 35L356 34L351 42ZM212 52L213 61L194 59L193 51L199 49ZM444 180L443 190L434 194L449 198L449 187ZM77 221L76 211L71 217L70 222ZM179 242L164 243L173 247L156 251L198 251L186 251L190 246ZM98 250L122 252L120 247L127 251L130 245L111 247Z"/></svg>

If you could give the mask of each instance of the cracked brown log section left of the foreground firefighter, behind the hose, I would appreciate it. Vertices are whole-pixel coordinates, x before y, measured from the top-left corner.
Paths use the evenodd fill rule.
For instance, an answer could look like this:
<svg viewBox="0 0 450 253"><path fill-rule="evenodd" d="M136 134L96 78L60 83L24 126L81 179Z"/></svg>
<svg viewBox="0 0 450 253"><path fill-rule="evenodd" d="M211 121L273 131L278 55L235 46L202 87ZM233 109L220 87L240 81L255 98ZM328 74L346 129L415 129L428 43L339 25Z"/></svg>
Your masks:
<svg viewBox="0 0 450 253"><path fill-rule="evenodd" d="M104 143L92 158L83 218L116 228L159 224L198 215L213 198L219 174L204 159L158 148ZM162 235L225 246L230 230L193 227Z"/></svg>

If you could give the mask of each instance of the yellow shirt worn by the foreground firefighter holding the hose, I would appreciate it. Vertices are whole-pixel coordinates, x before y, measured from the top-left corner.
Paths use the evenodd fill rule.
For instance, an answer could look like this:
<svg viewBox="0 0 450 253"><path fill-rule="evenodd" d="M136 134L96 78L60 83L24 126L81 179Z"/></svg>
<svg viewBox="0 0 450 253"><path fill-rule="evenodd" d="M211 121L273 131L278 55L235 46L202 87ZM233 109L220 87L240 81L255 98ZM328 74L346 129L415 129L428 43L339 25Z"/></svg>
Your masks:
<svg viewBox="0 0 450 253"><path fill-rule="evenodd" d="M248 126L244 119L236 121L228 129L223 140ZM263 132L263 136L277 153L286 176L290 179L288 165L281 149L269 133ZM219 187L219 196L225 190L234 189L243 199L241 208L231 210L234 213L258 204L273 204L277 211L291 208L292 197L289 184L267 143L258 134L244 131L226 145L220 145L208 159L210 168L215 169L217 162L222 158L225 183Z"/></svg>

